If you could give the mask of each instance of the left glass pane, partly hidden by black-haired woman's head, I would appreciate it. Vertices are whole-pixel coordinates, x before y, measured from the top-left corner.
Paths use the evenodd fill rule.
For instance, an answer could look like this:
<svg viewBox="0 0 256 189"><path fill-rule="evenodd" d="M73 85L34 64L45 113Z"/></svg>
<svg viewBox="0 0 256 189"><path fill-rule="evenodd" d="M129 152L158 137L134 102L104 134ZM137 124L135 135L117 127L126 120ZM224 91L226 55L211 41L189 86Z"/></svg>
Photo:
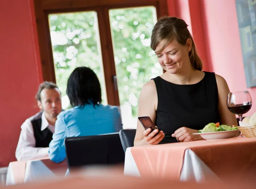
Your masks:
<svg viewBox="0 0 256 189"><path fill-rule="evenodd" d="M70 108L66 95L67 79L80 66L90 67L102 88L102 104L107 104L104 70L96 12L49 15L56 83L62 93L63 108Z"/></svg>

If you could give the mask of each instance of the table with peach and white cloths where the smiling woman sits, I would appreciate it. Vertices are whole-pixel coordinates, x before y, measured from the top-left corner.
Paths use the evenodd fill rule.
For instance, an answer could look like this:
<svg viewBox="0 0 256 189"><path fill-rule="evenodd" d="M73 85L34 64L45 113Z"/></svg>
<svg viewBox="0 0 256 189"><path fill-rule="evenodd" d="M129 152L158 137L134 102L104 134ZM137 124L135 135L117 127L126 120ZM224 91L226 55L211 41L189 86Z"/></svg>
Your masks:
<svg viewBox="0 0 256 189"><path fill-rule="evenodd" d="M256 149L255 138L136 146L127 148L124 174L196 182L220 180L224 174L256 170L256 150L252 149Z"/></svg>

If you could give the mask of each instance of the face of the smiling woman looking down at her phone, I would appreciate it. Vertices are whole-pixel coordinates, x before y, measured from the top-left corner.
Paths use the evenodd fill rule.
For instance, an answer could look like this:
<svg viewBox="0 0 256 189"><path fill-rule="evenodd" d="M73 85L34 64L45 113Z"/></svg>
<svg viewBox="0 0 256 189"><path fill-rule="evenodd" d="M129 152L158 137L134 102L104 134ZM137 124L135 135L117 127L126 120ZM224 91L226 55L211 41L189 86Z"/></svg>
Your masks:
<svg viewBox="0 0 256 189"><path fill-rule="evenodd" d="M189 60L189 51L192 47L191 39L187 39L184 46L176 40L172 40L162 52L158 52L162 46L163 42L160 42L155 52L157 52L158 61L164 70L169 73L180 73L184 69L191 69Z"/></svg>

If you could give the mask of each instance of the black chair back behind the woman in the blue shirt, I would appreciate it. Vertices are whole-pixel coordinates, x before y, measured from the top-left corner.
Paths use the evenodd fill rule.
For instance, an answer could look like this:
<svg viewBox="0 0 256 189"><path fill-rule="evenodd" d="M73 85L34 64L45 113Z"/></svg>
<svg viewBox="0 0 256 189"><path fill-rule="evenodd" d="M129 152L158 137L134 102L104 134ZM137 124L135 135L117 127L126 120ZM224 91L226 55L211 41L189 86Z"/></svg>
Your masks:
<svg viewBox="0 0 256 189"><path fill-rule="evenodd" d="M125 162L118 133L67 137L65 139L69 169L86 165L108 165Z"/></svg>

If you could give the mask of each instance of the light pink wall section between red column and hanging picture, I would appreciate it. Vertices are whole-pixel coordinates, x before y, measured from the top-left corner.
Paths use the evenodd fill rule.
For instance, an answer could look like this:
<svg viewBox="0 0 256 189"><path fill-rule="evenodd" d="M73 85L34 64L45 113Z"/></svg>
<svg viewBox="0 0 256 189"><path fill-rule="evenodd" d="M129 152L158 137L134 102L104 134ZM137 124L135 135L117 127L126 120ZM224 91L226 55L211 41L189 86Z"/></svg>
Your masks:
<svg viewBox="0 0 256 189"><path fill-rule="evenodd" d="M202 0L201 6L210 71L223 76L230 91L250 92L253 106L246 116L252 115L256 88L246 87L235 0Z"/></svg>

